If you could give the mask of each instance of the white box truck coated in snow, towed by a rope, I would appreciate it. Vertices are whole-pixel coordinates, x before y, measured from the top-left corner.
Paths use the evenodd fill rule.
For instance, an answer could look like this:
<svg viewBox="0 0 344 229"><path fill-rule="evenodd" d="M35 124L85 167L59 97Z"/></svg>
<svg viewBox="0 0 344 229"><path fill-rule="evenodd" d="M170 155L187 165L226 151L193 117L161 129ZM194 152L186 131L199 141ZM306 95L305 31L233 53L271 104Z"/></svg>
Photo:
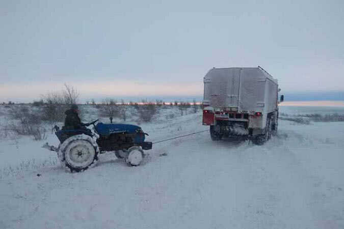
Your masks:
<svg viewBox="0 0 344 229"><path fill-rule="evenodd" d="M210 137L266 142L278 126L278 83L257 68L213 68L204 77L203 125ZM283 95L280 98L283 101Z"/></svg>

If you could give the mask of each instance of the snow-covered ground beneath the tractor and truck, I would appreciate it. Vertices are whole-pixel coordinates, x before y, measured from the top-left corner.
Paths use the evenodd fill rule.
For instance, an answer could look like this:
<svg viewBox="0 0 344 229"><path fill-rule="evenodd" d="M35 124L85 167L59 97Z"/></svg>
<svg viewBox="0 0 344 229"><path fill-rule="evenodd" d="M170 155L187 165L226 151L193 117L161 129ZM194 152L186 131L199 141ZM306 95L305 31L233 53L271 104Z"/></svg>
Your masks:
<svg viewBox="0 0 344 229"><path fill-rule="evenodd" d="M140 125L150 141L208 129L176 108ZM344 228L343 139L344 122L281 120L263 146L203 132L153 145L141 166L107 153L73 174L40 148L55 135L0 139L0 228Z"/></svg>

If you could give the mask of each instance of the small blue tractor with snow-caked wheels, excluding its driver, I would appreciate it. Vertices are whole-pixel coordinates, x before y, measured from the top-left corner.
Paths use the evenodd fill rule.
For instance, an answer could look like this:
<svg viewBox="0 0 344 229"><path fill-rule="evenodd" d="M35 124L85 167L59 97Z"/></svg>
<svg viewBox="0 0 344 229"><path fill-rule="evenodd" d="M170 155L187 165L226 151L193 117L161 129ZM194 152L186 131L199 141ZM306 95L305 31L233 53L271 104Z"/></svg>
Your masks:
<svg viewBox="0 0 344 229"><path fill-rule="evenodd" d="M43 145L58 153L61 164L71 172L83 171L95 165L98 155L112 151L117 158L123 158L128 165L137 166L143 160L143 150L152 149L152 142L145 141L141 127L129 124L103 124L93 121L93 132L88 128L62 130L55 126L55 134L60 140L59 147Z"/></svg>

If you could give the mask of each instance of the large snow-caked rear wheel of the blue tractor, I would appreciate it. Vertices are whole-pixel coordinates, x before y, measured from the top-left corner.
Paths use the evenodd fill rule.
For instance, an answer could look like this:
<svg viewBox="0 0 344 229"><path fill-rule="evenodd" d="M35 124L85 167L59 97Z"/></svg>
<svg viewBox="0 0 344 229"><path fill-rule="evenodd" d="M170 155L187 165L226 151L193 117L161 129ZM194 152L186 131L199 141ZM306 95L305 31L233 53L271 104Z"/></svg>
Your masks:
<svg viewBox="0 0 344 229"><path fill-rule="evenodd" d="M66 170L80 172L98 161L99 148L95 140L85 134L67 138L60 147L58 157Z"/></svg>

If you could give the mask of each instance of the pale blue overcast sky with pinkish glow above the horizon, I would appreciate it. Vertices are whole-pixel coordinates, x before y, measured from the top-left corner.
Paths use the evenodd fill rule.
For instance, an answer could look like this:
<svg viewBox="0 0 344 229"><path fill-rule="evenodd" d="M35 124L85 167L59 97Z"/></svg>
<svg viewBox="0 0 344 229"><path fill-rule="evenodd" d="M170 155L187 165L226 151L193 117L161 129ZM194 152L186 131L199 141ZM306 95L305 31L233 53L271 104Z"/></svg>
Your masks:
<svg viewBox="0 0 344 229"><path fill-rule="evenodd" d="M0 102L66 82L83 99L202 96L212 67L285 92L344 91L344 1L0 2Z"/></svg>

